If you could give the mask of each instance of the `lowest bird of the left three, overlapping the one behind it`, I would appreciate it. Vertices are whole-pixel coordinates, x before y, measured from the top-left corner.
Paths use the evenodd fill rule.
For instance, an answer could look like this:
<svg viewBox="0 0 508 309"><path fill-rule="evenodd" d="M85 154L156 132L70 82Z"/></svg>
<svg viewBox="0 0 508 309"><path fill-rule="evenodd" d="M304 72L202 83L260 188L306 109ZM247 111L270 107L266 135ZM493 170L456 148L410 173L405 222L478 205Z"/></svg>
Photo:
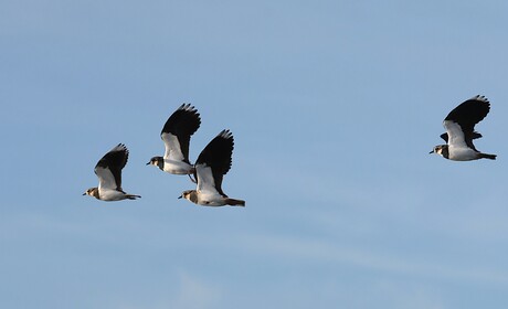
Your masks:
<svg viewBox="0 0 508 309"><path fill-rule="evenodd" d="M195 161L197 190L183 191L179 199L184 198L203 206L245 206L245 201L230 199L221 188L222 178L231 168L233 147L230 130L222 130L212 139Z"/></svg>

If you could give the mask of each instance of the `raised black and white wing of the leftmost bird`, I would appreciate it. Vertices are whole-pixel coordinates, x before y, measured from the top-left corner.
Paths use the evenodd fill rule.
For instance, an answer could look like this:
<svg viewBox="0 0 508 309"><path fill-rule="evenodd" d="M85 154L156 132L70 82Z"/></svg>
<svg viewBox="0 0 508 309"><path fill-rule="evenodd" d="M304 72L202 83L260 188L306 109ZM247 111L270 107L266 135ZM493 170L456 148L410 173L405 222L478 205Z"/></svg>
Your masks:
<svg viewBox="0 0 508 309"><path fill-rule="evenodd" d="M121 169L127 164L129 150L125 145L118 143L109 150L95 166L99 189L121 191Z"/></svg>

